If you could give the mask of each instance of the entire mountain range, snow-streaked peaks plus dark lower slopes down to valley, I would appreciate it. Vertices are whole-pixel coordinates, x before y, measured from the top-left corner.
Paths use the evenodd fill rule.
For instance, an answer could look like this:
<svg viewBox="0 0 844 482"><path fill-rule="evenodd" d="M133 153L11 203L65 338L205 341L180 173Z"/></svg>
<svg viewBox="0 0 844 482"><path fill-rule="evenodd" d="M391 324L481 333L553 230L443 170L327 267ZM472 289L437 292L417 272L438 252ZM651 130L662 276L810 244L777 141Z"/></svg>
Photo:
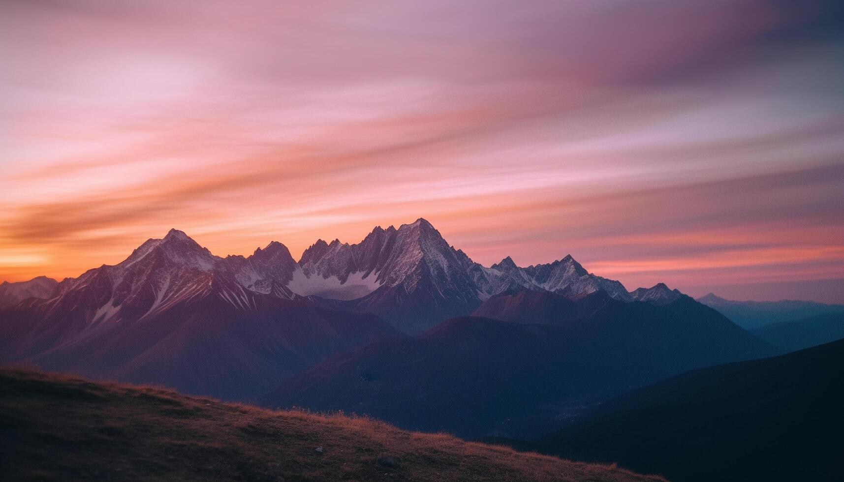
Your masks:
<svg viewBox="0 0 844 482"><path fill-rule="evenodd" d="M466 436L538 434L630 388L782 352L571 256L484 267L425 219L317 241L298 262L277 241L218 257L170 230L121 263L5 292L20 299L0 309L0 362Z"/></svg>

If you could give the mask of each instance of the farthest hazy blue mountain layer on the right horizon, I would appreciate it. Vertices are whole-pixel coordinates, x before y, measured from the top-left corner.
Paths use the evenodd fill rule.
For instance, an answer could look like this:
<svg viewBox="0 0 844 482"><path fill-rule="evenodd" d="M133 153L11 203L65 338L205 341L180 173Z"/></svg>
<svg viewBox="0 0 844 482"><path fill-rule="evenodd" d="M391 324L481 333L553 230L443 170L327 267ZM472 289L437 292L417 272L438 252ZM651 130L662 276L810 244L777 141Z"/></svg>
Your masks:
<svg viewBox="0 0 844 482"><path fill-rule="evenodd" d="M818 315L844 314L844 305L825 305L814 301L733 301L711 293L697 301L721 311L739 327L747 330Z"/></svg>

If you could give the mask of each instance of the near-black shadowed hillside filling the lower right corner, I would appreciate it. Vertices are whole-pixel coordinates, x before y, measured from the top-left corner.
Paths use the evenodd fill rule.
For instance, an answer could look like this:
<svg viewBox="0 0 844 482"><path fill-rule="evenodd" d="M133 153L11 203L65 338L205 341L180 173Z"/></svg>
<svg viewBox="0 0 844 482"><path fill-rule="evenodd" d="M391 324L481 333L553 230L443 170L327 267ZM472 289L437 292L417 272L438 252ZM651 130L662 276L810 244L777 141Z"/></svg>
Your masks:
<svg viewBox="0 0 844 482"><path fill-rule="evenodd" d="M836 480L844 340L691 371L605 403L533 449L668 479Z"/></svg>

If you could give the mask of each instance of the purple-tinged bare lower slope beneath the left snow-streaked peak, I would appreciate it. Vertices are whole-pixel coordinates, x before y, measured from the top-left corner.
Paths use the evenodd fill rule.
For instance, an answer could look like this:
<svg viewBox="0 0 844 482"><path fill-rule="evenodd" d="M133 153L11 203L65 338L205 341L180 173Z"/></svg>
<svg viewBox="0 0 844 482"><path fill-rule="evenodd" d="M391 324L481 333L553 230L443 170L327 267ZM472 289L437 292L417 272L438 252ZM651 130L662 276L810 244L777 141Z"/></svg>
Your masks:
<svg viewBox="0 0 844 482"><path fill-rule="evenodd" d="M18 356L7 352L3 360L251 400L331 355L398 335L371 315L268 295L253 295L249 302L254 307L241 310L216 296L197 297L140 322L116 322L68 335L67 341L50 349ZM33 339L37 342L37 333Z"/></svg>

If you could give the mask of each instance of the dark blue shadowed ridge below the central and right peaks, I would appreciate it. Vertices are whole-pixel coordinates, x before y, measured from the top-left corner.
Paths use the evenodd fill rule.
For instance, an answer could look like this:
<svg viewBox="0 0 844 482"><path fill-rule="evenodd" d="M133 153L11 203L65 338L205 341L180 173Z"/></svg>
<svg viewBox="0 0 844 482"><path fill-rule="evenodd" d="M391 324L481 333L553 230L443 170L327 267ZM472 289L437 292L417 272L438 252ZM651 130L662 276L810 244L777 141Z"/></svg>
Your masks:
<svg viewBox="0 0 844 482"><path fill-rule="evenodd" d="M462 317L371 344L322 362L267 402L461 436L535 436L631 387L776 353L688 297L654 306L603 292L571 301L527 291L476 312L514 322ZM551 324L527 324L530 312Z"/></svg>

